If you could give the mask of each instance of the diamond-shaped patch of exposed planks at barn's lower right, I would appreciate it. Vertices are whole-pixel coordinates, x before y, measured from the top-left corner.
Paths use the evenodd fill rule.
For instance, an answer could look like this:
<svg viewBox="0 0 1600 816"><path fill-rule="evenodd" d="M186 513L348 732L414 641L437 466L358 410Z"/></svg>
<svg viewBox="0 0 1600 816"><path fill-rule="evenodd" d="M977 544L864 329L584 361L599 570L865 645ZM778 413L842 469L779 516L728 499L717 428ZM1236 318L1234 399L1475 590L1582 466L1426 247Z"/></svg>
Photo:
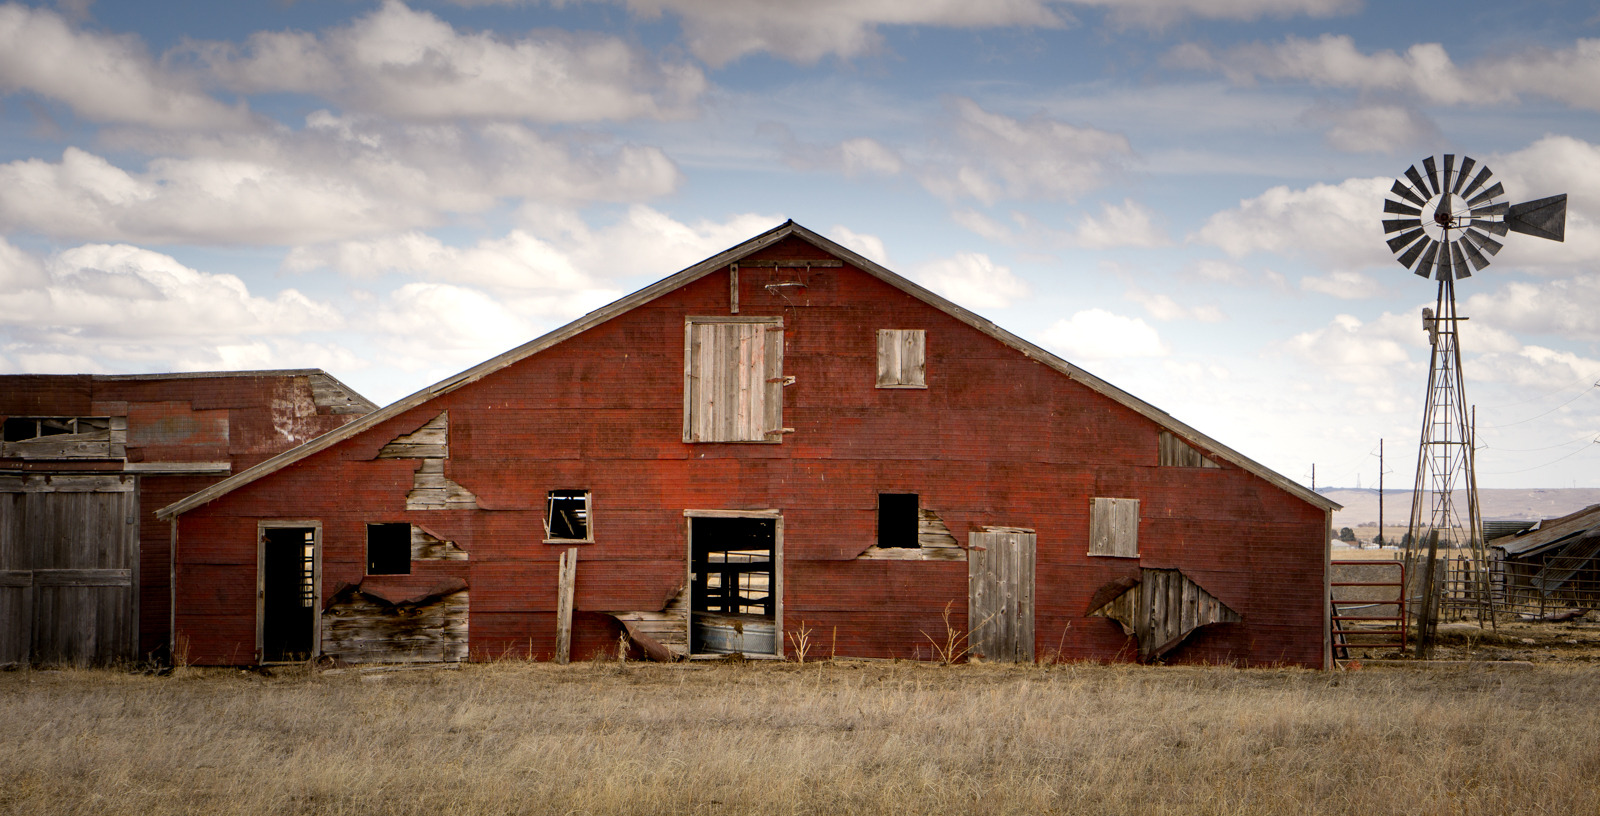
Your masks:
<svg viewBox="0 0 1600 816"><path fill-rule="evenodd" d="M1179 570L1141 570L1139 582L1090 618L1110 618L1139 643L1139 659L1160 659L1195 629L1243 621L1237 611L1206 592Z"/></svg>

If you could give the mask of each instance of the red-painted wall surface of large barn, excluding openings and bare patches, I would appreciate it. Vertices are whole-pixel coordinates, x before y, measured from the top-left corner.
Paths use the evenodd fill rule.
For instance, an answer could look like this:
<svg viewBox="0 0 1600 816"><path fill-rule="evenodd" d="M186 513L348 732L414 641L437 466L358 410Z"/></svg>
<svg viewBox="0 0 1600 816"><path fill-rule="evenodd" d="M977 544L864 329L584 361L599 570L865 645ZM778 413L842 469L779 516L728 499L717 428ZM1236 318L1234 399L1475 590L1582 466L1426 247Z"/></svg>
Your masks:
<svg viewBox="0 0 1600 816"><path fill-rule="evenodd" d="M790 238L762 258L827 258ZM803 278L773 294L765 283ZM613 648L605 611L659 610L685 576L685 509L779 509L784 624L813 654L928 658L941 613L965 629L965 562L856 560L878 493L918 493L965 546L984 525L1034 528L1037 653L1131 659L1093 592L1139 565L1179 568L1243 614L1197 632L1173 661L1320 666L1323 510L1256 475L1157 467L1158 427L864 272L741 272L741 315L784 318L781 445L686 445L683 318L726 315L717 272L410 410L181 517L179 632L202 662L240 662L254 638L256 522L323 523L323 592L357 582L370 522L413 522L470 554L475 658L550 656L555 573L546 493L594 494L581 546L573 656ZM928 389L880 390L875 333L926 330ZM419 464L384 443L450 411L445 472L477 510L406 510ZM1091 558L1090 501L1141 499L1138 562ZM443 568L418 562L416 570Z"/></svg>

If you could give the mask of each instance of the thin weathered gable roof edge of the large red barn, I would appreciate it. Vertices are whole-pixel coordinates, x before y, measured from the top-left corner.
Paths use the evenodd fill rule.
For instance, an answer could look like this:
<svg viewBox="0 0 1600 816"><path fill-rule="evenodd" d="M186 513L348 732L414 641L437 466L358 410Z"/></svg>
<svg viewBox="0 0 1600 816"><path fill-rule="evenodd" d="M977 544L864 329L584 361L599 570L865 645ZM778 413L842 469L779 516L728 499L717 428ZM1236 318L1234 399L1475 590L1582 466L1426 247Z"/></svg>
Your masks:
<svg viewBox="0 0 1600 816"><path fill-rule="evenodd" d="M962 323L966 323L968 326L973 326L974 330L982 331L984 334L989 334L990 338L1000 341L1002 344L1005 344L1005 346L1008 346L1008 347L1021 352L1024 357L1029 357L1032 360L1038 360L1040 363L1048 365L1050 368L1054 368L1056 371L1066 374L1069 379L1082 382L1088 389L1091 389L1091 390L1094 390L1094 392L1098 392L1098 394L1110 398L1112 402L1117 402L1117 403L1126 406L1128 410L1131 410L1131 411L1134 411L1134 413L1138 413L1138 414L1150 419L1152 422L1155 422L1157 426L1160 426L1165 430L1171 432L1173 435L1182 438L1184 442L1189 442L1189 443L1192 443L1197 448L1203 448L1210 454L1213 454L1213 456L1216 456L1216 458L1219 458L1219 459L1222 459L1226 462L1230 462L1230 464L1234 464L1234 466L1237 466L1237 467L1240 467L1243 470L1248 470L1248 472L1251 472L1251 474L1264 478L1266 482L1269 482L1269 483L1272 483L1272 485L1275 485L1275 486L1278 486L1278 488L1282 488L1282 490L1294 494L1296 498L1299 498L1302 501L1307 501L1307 502L1310 502L1310 504L1314 504L1317 507L1326 509L1326 510L1333 510L1333 509L1339 507L1338 502L1333 502L1333 501L1323 498L1322 494L1318 494L1318 493L1315 493L1315 491L1312 491L1312 490L1309 490L1309 488L1306 488L1306 486L1302 486L1302 485L1299 485L1299 483L1296 483L1296 482L1283 477L1282 474L1278 474L1278 472L1275 472L1275 470L1272 470L1272 469L1269 469L1269 467L1266 467L1266 466L1262 466L1262 464L1259 464L1259 462L1246 458L1245 454L1242 454L1242 453L1238 453L1238 451L1235 451L1235 450L1232 450L1232 448L1229 448L1229 446L1226 446L1226 445L1213 440L1211 437L1206 437L1205 434L1200 434L1198 430L1189 427L1187 424L1179 422L1178 419L1174 419L1166 411L1163 411L1163 410L1160 410L1160 408L1157 408L1157 406L1154 406L1154 405L1150 405L1150 403L1147 403L1147 402L1144 402L1144 400L1141 400L1141 398L1138 398L1138 397L1134 397L1134 395L1131 395L1131 394L1118 389L1117 386L1112 386L1110 382L1106 382L1104 379L1101 379L1101 378L1098 378L1098 376L1094 376L1094 374L1091 374L1091 373L1088 373L1088 371L1085 371L1085 370L1082 370L1082 368L1078 368L1078 366L1075 366L1075 365L1062 360L1061 357L1056 357L1054 354L1051 354L1051 352L1048 352L1048 350L1045 350L1045 349L1042 349L1042 347L1038 347L1038 346L1035 346L1035 344L1032 344L1032 342L1029 342L1029 341L1026 341L1026 339L1022 339L1022 338L1019 338L1016 334L1011 334L1010 331L1000 328L998 325L995 325L995 323L992 323L992 322L989 322L989 320L986 320L986 318L982 318L982 317L979 317L979 315L976 315L976 314L973 314L973 312L970 312L970 310L966 310L966 309L963 309L963 307L960 307L960 306L957 306L957 304L954 304L954 302L950 302L950 301L947 301L947 299L944 299L944 298L941 298L941 296L938 296L938 294L934 294L934 293L931 293L931 291L928 291L928 290L925 290L925 288L912 283L910 280L907 280L907 278L904 278L904 277L901 277L901 275L898 275L894 272L890 272L883 266L880 266L880 264L877 264L877 262L874 262L874 261L870 261L870 259L867 259L867 258L864 258L864 256L861 256L861 254L858 254L858 253L854 253L854 251L851 251L851 250L848 250L848 248L845 248L845 246L842 246L842 245L838 245L838 243L835 243L835 242L832 242L829 238L824 238L822 235L819 235L816 232L811 232L810 229L802 227L800 224L795 224L794 221L787 221L787 222L779 224L778 227L774 227L771 230L766 230L762 235L757 235L757 237L754 237L754 238L750 238L750 240L747 240L747 242L744 242L744 243L741 243L738 246L733 246L733 248L725 250L725 251L722 251L718 254L714 254L714 256L710 256L710 258L707 258L707 259L704 259L704 261L701 261L701 262L698 262L698 264L694 264L694 266L691 266L691 267L688 267L688 269L685 269L685 270L682 270L682 272L678 272L675 275L669 275L666 278L661 278L656 283L651 283L650 286L645 286L645 288L642 288L642 290L638 290L638 291L635 291L635 293L632 293L632 294L629 294L629 296L626 296L626 298L622 298L619 301L611 302L610 306L595 309L594 312L589 312L587 315L579 317L578 320L573 320L571 323L566 323L565 326L557 328L555 331L550 331L549 334L544 334L544 336L541 336L538 339L525 342L525 344L522 344L522 346L518 346L515 349L510 349L509 352L504 352L501 355L491 357L491 358L488 358L488 360L485 360L485 362L482 362L482 363L478 363L478 365L475 365L475 366L472 366L472 368L469 368L466 371L461 371L459 374L446 378L446 379L443 379L440 382L435 382L435 384L432 384L432 386L429 386L429 387L426 387L422 390L418 390L416 394L411 394L410 397L405 397L405 398L400 398L400 400L397 400L397 402L394 402L390 405L386 405L384 408L381 408L378 411L373 411L373 413L370 413L370 414L366 414L366 416L363 416L363 418L360 418L360 419L357 419L357 421L354 421L354 422L350 422L347 426L341 426L336 430L323 434L322 437L317 437L317 438L314 438L314 440L310 440L310 442L307 442L307 443L304 443L304 445L301 445L298 448L291 448L288 451L283 451L283 453L280 453L280 454L277 454L277 456L274 456L274 458L270 458L270 459L267 459L267 461L264 461L264 462L261 462L261 464L258 464L258 466L254 466L254 467L251 467L248 470L242 470L242 472L238 472L238 474L235 474L235 475L232 475L232 477L229 477L229 478L226 478L222 482L218 482L216 485L211 485L210 488L202 490L202 491L198 491L198 493L195 493L195 494L192 494L192 496L189 496L189 498L186 498L182 501L178 501L178 502L173 502L173 504L170 504L166 507L162 507L160 510L157 510L155 515L157 515L157 518L171 518L171 517L174 517L178 514L182 514L182 512L192 510L195 507L200 507L203 504L208 504L208 502L211 502L211 501L214 501L214 499L218 499L218 498L221 498L221 496L224 496L227 493L232 493L234 490L238 490L238 488L242 488L242 486L245 486L245 485L248 485L248 483L251 483L251 482L254 482L258 478L262 478L262 477L270 475L270 474L274 474L277 470L282 470L283 467L288 467L290 464L294 464L294 462L298 462L298 461L301 461L301 459L304 459L307 456L312 456L312 454L315 454L318 451L328 450L333 445L338 445L339 442L342 442L346 438L350 438L350 437L354 437L354 435L357 435L357 434L360 434L360 432L363 432L363 430L366 430L370 427L374 427L374 426L378 426L378 424L381 424L381 422L384 422L387 419L392 419L392 418L395 418L395 416L398 416L398 414L402 414L405 411L410 411L411 408L416 408L418 405L422 405L422 403L432 400L434 397L440 397L440 395L450 394L450 392L453 392L453 390L456 390L456 389L459 389L462 386L469 386L472 382L477 382L478 379L483 379L485 376L493 374L494 371L499 371L499 370L502 370L502 368L506 368L506 366L509 366L512 363L517 363L518 360L523 360L526 357L539 354L544 349L549 349L549 347L552 347L552 346L555 346L555 344L558 344L562 341L566 341L566 339L570 339L570 338L573 338L573 336L576 336L576 334L579 334L582 331L587 331L589 328L594 328L594 326L597 326L600 323L605 323L606 320L611 320L613 317L618 317L618 315L621 315L621 314L624 314L624 312L627 312L627 310L630 310L630 309L634 309L634 307L637 307L640 304L650 302L650 301L659 298L661 294L666 294L666 293L674 291L674 290L677 290L680 286L693 283L693 282L696 282L696 280L699 280L699 278L702 278L702 277L706 277L706 275L709 275L712 272L718 272L722 269L726 269L728 264L734 264L734 262L738 262L739 259L742 259L746 256L750 256L750 254L754 254L754 253L757 253L760 250L765 250L766 246L771 246L771 245L774 245L778 242L782 242L786 238L790 238L790 237L800 238L800 240L803 240L806 243L811 243L813 246L816 246L816 248L819 248L819 250L822 250L822 251L826 251L826 253L829 253L829 254L832 254L832 256L835 256L835 258L848 262L850 266L854 266L856 269L861 269L862 272L866 272L866 274L869 274L869 275L872 275L872 277L875 277L875 278L888 283L890 286L894 286L894 288L898 288L898 290L901 290L901 291L904 291L904 293L907 293L907 294L910 294L910 296L914 296L914 298L917 298L917 299L920 299L920 301L933 306L934 309L939 309L941 312L949 314L950 317L960 320Z"/></svg>

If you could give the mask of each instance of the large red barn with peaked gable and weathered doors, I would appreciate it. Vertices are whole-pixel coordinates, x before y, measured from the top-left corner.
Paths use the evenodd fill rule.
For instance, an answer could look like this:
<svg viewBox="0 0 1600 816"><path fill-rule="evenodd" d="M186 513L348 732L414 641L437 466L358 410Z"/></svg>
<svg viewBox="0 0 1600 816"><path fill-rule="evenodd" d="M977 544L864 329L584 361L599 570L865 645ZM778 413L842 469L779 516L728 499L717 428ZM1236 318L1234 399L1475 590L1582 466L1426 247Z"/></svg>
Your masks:
<svg viewBox="0 0 1600 816"><path fill-rule="evenodd" d="M158 515L206 664L1326 666L1334 507L787 222Z"/></svg>

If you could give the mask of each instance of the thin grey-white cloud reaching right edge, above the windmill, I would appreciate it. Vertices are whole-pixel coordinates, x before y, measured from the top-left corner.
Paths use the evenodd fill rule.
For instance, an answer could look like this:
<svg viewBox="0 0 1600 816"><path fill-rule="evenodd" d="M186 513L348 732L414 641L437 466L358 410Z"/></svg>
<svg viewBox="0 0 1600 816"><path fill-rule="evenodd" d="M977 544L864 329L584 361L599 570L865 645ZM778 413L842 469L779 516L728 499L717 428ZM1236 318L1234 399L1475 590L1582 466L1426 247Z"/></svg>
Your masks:
<svg viewBox="0 0 1600 816"><path fill-rule="evenodd" d="M1600 110L1600 40L1576 40L1571 48L1530 48L1522 53L1458 66L1440 43L1363 53L1349 35L1315 40L1286 37L1282 43L1251 43L1226 53L1200 45L1174 48L1166 62L1216 70L1237 83L1256 80L1307 82L1325 88L1405 93L1434 104L1486 104L1544 96L1573 107Z"/></svg>

